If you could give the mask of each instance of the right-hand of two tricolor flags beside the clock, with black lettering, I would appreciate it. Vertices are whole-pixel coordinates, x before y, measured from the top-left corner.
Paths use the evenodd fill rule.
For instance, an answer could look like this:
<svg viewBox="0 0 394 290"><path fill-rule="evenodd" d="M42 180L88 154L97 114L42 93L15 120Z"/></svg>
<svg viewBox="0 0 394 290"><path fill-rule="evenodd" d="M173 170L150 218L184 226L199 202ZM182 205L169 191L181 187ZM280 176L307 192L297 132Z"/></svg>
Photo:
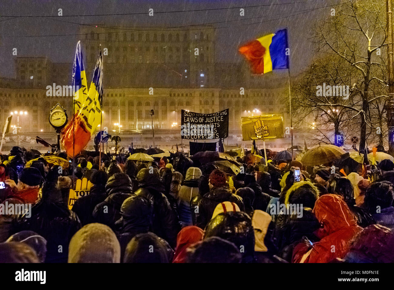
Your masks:
<svg viewBox="0 0 394 290"><path fill-rule="evenodd" d="M77 50L78 50L78 45L77 45ZM73 72L73 77L74 77L74 72ZM75 74L75 78L77 77L78 75ZM78 92L79 91L77 91L76 94ZM78 114L75 116L74 122L71 123L70 125L67 125L67 127L65 127L65 130L63 131L64 135L61 139L61 142L65 147L65 150L68 155L74 156L80 153L81 150L89 142L91 134L95 132L97 126L100 124L102 93L103 93L102 52L100 47L100 55L96 63L95 71L93 73L93 80L90 84L89 93L81 103L80 110L78 111Z"/></svg>

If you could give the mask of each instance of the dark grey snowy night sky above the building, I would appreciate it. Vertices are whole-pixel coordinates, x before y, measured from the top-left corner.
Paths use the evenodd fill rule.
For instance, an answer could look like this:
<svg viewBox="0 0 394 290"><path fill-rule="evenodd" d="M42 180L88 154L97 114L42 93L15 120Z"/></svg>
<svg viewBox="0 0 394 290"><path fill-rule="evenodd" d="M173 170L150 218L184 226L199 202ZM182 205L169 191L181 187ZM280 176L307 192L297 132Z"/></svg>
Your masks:
<svg viewBox="0 0 394 290"><path fill-rule="evenodd" d="M287 27L290 36L291 71L298 73L306 68L313 56L308 39L311 25L318 19L330 17L330 5L336 2L338 1L0 0L0 35L2 36L0 37L0 76L15 77L13 59L16 56L12 55L13 48L17 48L18 56L48 56L52 62L72 62L76 42L79 39L83 41L85 38L76 35L80 24L127 27L210 24L218 28L216 30L217 62L243 61L242 56L237 52L240 44ZM228 7L237 8L217 9ZM240 16L240 7L245 7L243 17ZM63 10L62 17L57 16L59 8ZM148 16L150 8L154 9L153 17ZM197 9L216 10L156 13ZM143 14L67 17L67 15L119 13ZM54 17L21 17L49 15Z"/></svg>

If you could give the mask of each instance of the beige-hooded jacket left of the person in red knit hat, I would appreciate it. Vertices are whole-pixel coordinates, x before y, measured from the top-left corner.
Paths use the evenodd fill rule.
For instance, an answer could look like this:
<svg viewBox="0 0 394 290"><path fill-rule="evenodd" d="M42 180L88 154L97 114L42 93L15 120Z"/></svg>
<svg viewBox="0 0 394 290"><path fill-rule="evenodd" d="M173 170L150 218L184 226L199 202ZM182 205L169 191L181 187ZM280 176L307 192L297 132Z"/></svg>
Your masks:
<svg viewBox="0 0 394 290"><path fill-rule="evenodd" d="M190 202L193 197L199 194L198 180L201 177L202 172L198 167L190 167L186 171L185 180L179 190L179 220L182 226L193 225L191 218Z"/></svg>

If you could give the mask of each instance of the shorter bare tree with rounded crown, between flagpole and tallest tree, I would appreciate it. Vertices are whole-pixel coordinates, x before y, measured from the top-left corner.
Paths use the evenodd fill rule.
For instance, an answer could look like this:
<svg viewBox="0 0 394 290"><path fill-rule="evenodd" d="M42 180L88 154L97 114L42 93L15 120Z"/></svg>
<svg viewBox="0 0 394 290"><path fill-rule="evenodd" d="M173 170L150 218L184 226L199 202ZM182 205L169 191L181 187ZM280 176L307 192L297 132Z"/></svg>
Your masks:
<svg viewBox="0 0 394 290"><path fill-rule="evenodd" d="M293 82L294 127L307 132L312 144L331 144L337 134L352 135L354 128L349 124L357 114L353 107L357 94L354 88L346 90L346 84L357 82L356 78L353 67L338 56L322 56Z"/></svg>

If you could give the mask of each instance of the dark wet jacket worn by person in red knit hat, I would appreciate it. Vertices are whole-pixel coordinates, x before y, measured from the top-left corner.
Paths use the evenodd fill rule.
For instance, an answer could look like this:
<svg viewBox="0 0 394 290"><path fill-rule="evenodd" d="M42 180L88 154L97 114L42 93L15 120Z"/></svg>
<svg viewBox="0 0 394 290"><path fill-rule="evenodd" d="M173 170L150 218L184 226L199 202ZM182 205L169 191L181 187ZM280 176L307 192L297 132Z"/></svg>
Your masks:
<svg viewBox="0 0 394 290"><path fill-rule="evenodd" d="M198 202L198 212L196 213L196 226L204 229L211 220L217 204L221 202L234 202L241 211L245 210L242 197L232 194L227 187L213 187Z"/></svg>

